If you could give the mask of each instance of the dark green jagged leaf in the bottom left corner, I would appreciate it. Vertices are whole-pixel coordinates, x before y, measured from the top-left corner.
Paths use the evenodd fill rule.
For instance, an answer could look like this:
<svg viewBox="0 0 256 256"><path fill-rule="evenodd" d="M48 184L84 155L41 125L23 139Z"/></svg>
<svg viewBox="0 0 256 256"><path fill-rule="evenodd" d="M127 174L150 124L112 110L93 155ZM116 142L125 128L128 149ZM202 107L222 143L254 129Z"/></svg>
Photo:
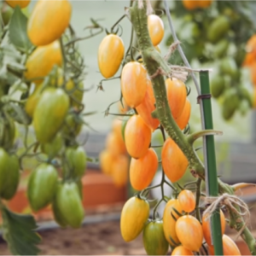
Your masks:
<svg viewBox="0 0 256 256"><path fill-rule="evenodd" d="M14 256L37 256L40 236L34 230L36 222L31 215L16 214L3 207L3 239L8 242Z"/></svg>

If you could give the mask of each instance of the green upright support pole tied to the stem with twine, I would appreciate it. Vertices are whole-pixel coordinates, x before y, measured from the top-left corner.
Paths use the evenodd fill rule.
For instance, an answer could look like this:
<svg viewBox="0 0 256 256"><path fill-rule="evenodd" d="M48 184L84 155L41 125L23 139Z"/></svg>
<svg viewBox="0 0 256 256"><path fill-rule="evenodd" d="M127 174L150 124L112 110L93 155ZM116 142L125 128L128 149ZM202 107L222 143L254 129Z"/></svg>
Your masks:
<svg viewBox="0 0 256 256"><path fill-rule="evenodd" d="M200 84L201 84L201 101L203 104L203 112L205 119L204 129L213 129L212 122L212 103L210 98L210 85L209 85L209 73L208 71L200 72ZM215 157L215 145L213 135L208 135L205 138L207 155L206 158L206 184L207 184L207 195L218 196L218 177L216 168L216 157ZM212 244L214 245L215 255L223 256L223 244L222 244L222 233L220 224L219 209L217 209L211 218L211 233L212 233Z"/></svg>

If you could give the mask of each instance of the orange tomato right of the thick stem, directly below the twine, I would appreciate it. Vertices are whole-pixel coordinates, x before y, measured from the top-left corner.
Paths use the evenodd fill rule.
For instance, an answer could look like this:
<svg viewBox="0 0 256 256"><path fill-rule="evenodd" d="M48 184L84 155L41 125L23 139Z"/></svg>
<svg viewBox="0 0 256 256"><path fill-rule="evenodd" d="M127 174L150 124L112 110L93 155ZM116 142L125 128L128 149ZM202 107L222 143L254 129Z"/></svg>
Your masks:
<svg viewBox="0 0 256 256"><path fill-rule="evenodd" d="M185 106L187 98L186 85L178 79L166 79L166 93L172 116L177 119Z"/></svg>

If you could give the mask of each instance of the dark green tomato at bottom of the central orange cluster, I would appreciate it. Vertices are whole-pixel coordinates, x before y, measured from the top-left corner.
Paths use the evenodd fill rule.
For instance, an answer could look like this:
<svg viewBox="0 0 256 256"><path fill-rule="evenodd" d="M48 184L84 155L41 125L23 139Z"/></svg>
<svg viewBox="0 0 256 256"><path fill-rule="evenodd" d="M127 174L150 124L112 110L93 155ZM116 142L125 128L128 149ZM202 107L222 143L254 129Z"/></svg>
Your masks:
<svg viewBox="0 0 256 256"><path fill-rule="evenodd" d="M150 221L143 230L143 245L148 256L166 256L168 241L161 220Z"/></svg>

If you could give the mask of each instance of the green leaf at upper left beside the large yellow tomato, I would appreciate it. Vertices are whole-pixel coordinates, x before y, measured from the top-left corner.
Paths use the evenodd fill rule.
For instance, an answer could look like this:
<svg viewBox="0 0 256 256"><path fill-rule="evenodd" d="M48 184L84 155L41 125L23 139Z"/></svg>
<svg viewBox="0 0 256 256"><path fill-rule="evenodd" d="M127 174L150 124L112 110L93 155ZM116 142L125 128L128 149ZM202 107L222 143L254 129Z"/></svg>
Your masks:
<svg viewBox="0 0 256 256"><path fill-rule="evenodd" d="M9 40L12 44L21 51L27 52L32 47L32 44L26 34L27 18L20 7L15 7L15 12L9 23Z"/></svg>

